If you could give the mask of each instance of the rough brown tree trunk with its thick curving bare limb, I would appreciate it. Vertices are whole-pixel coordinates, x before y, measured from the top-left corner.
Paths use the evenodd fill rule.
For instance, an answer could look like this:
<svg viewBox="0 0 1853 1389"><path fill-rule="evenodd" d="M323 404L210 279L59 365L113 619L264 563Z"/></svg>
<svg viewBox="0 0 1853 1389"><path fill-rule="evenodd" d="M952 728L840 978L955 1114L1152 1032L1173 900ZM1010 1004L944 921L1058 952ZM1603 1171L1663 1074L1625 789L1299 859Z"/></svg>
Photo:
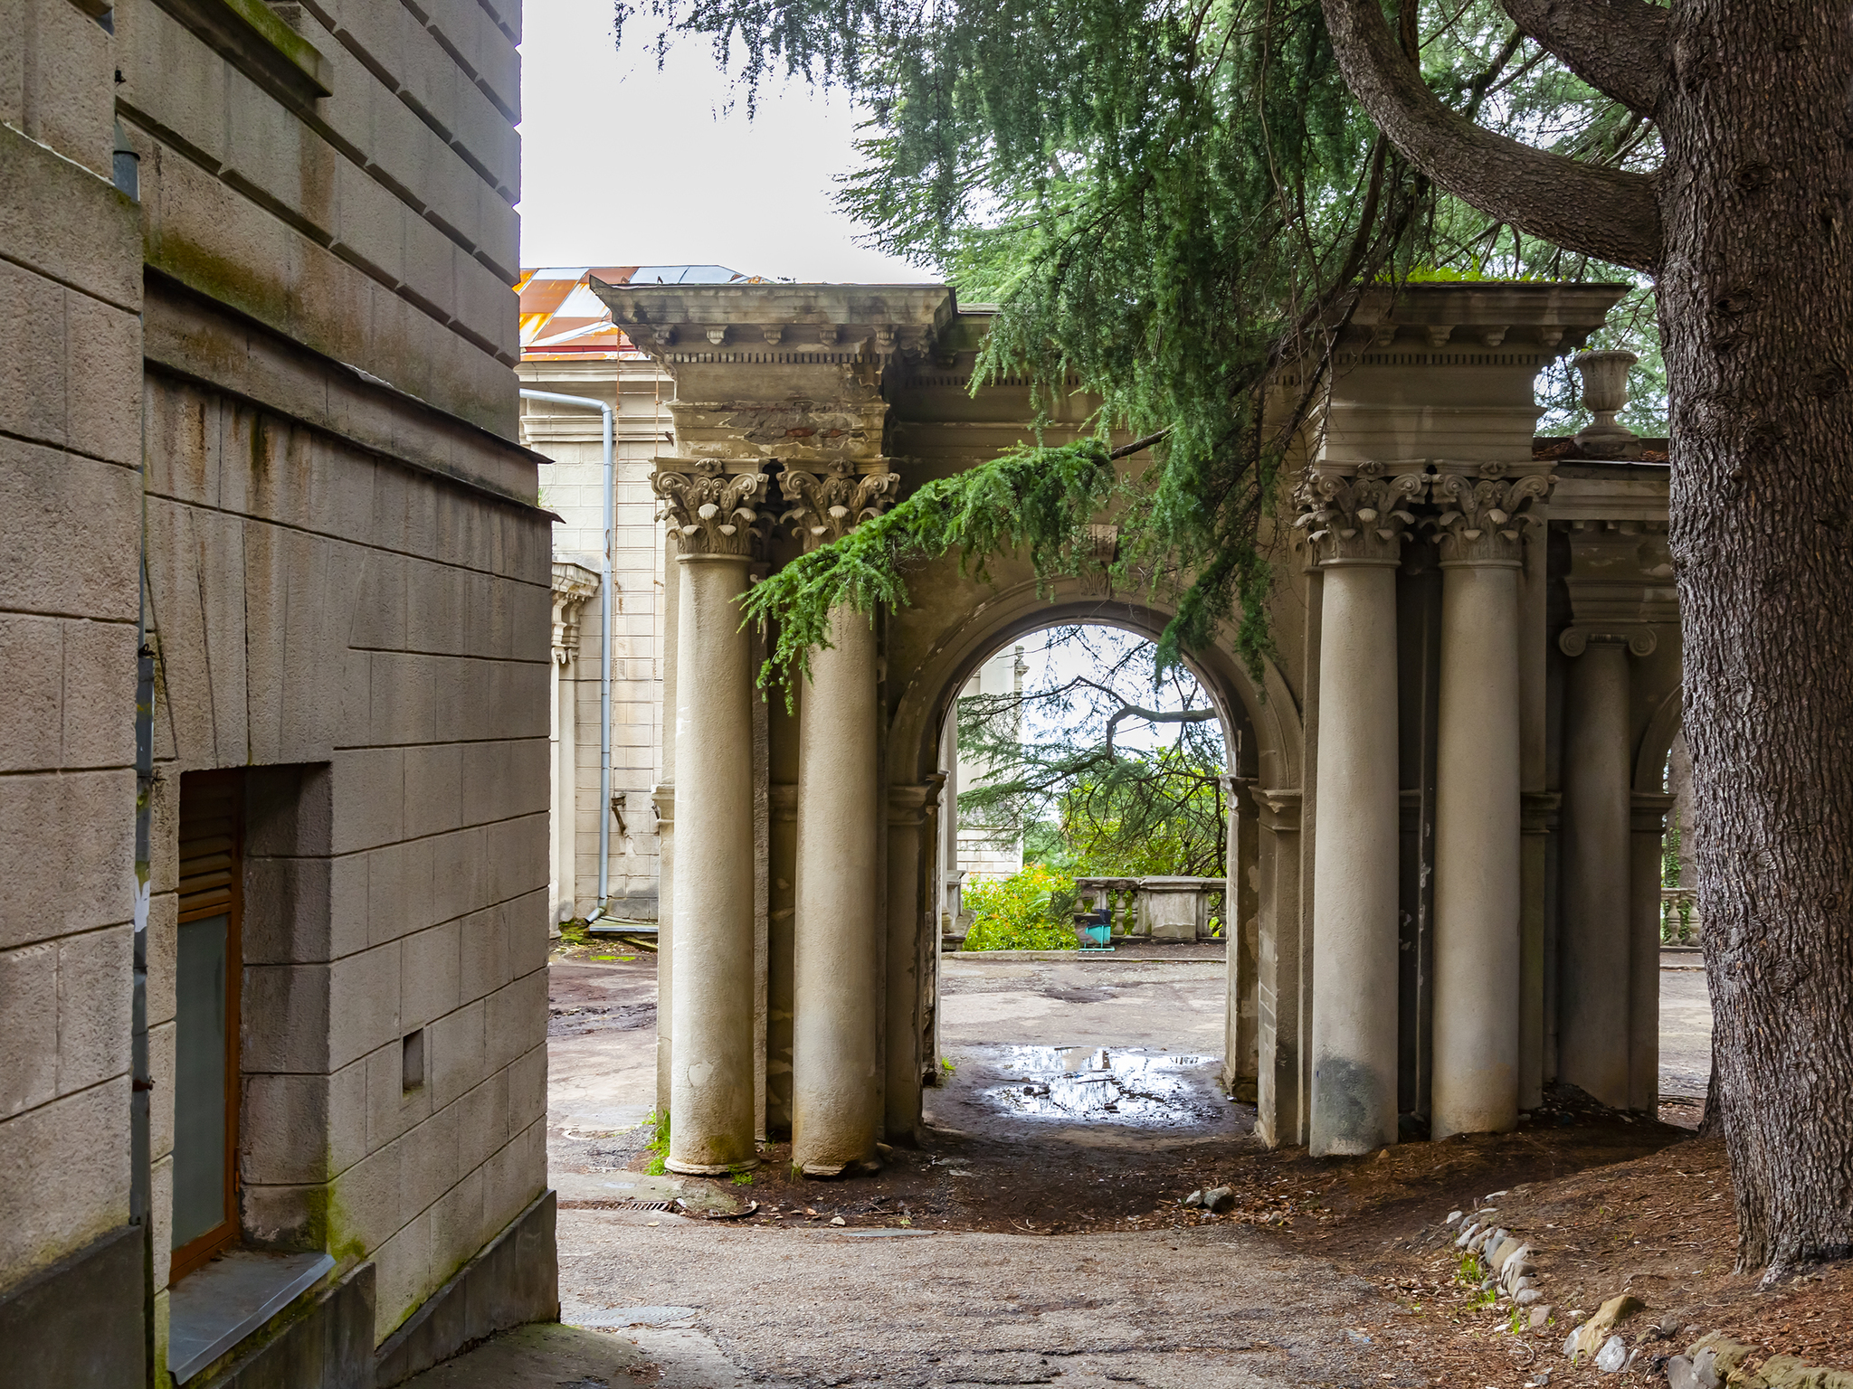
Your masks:
<svg viewBox="0 0 1853 1389"><path fill-rule="evenodd" d="M1738 1261L1777 1278L1853 1252L1853 19L1506 9L1658 122L1651 181L1488 146L1414 80L1377 0L1325 0L1345 80L1436 183L1658 276L1716 1089Z"/></svg>

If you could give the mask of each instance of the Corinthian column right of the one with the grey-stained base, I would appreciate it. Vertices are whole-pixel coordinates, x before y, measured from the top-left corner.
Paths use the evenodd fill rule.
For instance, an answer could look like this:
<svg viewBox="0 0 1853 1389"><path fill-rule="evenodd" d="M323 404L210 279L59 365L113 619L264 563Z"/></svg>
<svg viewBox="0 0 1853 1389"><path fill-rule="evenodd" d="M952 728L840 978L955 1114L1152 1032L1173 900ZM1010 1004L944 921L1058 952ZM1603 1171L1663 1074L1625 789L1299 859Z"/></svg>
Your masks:
<svg viewBox="0 0 1853 1389"><path fill-rule="evenodd" d="M1434 480L1442 682L1434 807L1432 1135L1505 1132L1519 1089L1521 515L1551 478Z"/></svg>

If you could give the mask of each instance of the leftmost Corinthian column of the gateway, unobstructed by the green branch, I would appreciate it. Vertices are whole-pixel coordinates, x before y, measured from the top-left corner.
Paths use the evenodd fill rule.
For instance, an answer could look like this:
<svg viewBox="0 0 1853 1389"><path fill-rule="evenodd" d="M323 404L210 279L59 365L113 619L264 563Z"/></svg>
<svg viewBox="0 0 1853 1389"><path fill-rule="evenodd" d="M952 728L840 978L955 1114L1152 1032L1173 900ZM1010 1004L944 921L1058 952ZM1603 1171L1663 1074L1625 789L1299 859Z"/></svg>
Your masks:
<svg viewBox="0 0 1853 1389"><path fill-rule="evenodd" d="M680 543L671 1172L758 1165L752 1113L752 659L739 594L765 474L660 470Z"/></svg>

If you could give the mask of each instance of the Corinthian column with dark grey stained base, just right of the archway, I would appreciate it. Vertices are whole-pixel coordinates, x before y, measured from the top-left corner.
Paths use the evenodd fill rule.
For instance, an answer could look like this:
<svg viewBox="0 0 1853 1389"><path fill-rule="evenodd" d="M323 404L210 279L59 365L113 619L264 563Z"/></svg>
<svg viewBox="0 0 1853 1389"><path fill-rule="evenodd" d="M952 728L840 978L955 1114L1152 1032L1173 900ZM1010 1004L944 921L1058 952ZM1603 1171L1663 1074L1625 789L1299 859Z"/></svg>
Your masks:
<svg viewBox="0 0 1853 1389"><path fill-rule="evenodd" d="M1423 478L1312 474L1299 524L1323 572L1312 852L1312 1152L1395 1143L1395 569ZM1230 946L1234 948L1234 946Z"/></svg>

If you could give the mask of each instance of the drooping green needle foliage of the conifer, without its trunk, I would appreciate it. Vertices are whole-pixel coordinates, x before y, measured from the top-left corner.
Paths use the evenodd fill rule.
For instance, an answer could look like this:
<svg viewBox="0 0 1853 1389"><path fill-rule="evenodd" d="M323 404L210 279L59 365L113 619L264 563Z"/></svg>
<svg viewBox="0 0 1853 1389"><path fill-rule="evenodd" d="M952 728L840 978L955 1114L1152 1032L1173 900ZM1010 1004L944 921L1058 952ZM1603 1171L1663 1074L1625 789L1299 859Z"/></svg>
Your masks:
<svg viewBox="0 0 1853 1389"><path fill-rule="evenodd" d="M1436 94L1488 128L1653 163L1653 124L1521 41L1499 0L1401 0L1399 20ZM660 50L710 41L749 111L767 76L854 96L845 211L999 307L973 389L1027 376L1045 402L1091 396L1095 439L1166 435L1117 482L1101 443L1015 450L789 565L747 602L776 624L786 678L834 604L906 602L919 557L958 550L982 572L1027 546L1038 574L1073 570L1077 528L1116 487L1116 585L1175 613L1158 669L1229 633L1256 672L1280 472L1358 296L1418 267L1616 278L1436 196L1345 91L1319 0L617 0L619 35L639 22ZM1647 394L1651 335L1638 315L1601 343L1644 352ZM1573 428L1568 370L1547 396Z"/></svg>

